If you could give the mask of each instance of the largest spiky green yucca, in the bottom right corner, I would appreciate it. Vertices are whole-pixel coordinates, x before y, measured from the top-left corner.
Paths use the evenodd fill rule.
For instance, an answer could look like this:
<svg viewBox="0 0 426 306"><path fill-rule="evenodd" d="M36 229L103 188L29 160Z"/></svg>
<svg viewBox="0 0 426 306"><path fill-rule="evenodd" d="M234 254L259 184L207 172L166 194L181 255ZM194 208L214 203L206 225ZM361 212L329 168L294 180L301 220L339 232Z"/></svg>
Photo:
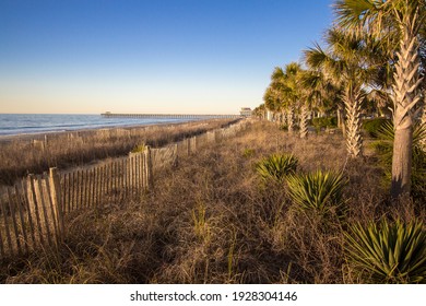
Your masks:
<svg viewBox="0 0 426 306"><path fill-rule="evenodd" d="M345 233L350 261L365 281L375 283L426 283L426 232L413 221L379 226L357 223Z"/></svg>

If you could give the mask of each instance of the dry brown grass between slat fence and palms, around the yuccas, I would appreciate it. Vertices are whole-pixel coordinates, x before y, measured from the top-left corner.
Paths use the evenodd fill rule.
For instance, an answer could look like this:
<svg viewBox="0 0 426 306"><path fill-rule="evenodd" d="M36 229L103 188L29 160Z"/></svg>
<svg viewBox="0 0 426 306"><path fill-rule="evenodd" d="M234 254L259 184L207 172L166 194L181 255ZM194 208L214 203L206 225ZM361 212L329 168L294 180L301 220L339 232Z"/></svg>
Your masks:
<svg viewBox="0 0 426 306"><path fill-rule="evenodd" d="M257 161L293 153L300 170L344 170L344 220L296 210L285 185L263 184ZM357 283L343 254L347 223L383 215L426 220L424 208L390 205L375 160L346 161L339 134L307 141L257 122L239 137L179 157L155 190L116 208L69 216L58 252L0 269L4 283Z"/></svg>

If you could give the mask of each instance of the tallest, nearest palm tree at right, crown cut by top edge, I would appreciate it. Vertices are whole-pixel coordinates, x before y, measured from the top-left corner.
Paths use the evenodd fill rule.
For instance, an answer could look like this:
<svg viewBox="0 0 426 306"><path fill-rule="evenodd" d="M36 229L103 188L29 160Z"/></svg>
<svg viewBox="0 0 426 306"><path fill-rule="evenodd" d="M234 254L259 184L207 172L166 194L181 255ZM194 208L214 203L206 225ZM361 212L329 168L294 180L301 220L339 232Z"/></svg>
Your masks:
<svg viewBox="0 0 426 306"><path fill-rule="evenodd" d="M336 0L336 22L342 28L376 37L398 37L393 62L392 101L394 144L391 196L410 193L413 123L421 102L419 33L425 31L424 0Z"/></svg>

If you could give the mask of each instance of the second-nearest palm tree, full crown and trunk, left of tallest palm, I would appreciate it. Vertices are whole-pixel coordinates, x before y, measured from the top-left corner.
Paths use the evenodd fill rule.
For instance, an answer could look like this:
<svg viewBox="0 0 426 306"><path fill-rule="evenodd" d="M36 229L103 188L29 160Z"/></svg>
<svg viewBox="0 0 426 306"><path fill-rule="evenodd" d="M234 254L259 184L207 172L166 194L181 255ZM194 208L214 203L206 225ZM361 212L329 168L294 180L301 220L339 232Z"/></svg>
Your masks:
<svg viewBox="0 0 426 306"><path fill-rule="evenodd" d="M318 44L305 51L309 67L320 70L342 89L341 99L346 113L346 148L350 157L362 155L363 139L360 134L360 106L365 97L366 60L365 39L351 37L334 27L328 31L326 40L329 49Z"/></svg>

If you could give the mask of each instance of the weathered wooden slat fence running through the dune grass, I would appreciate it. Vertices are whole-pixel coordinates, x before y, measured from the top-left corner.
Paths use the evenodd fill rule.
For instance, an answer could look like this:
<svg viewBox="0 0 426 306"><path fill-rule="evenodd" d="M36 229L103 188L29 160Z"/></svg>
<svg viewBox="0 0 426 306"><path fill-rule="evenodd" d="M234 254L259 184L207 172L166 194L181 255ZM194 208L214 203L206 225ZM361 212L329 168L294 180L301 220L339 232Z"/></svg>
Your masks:
<svg viewBox="0 0 426 306"><path fill-rule="evenodd" d="M153 174L177 165L178 156L194 154L206 143L236 136L241 121L225 129L185 139L159 149L69 172L50 168L28 175L0 190L0 261L37 247L55 248L66 237L66 215L73 211L123 204L153 188Z"/></svg>

